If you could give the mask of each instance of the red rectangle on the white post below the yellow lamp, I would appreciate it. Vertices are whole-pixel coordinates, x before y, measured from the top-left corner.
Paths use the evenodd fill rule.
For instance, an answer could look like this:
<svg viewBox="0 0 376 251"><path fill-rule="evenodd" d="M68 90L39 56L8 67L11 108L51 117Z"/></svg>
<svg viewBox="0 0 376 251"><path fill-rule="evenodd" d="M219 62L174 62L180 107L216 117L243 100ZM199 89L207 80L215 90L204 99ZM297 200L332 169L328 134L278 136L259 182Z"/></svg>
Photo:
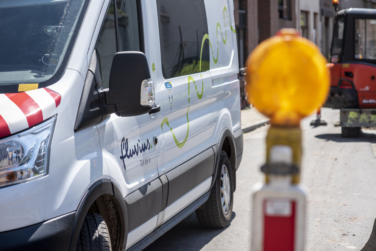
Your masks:
<svg viewBox="0 0 376 251"><path fill-rule="evenodd" d="M273 199L272 199L273 200ZM276 199L279 200L279 199ZM288 200L290 212L267 212L267 203L263 202L264 212L264 251L294 251L295 206L296 202ZM284 209L282 209L283 211ZM281 211L281 210L280 210Z"/></svg>

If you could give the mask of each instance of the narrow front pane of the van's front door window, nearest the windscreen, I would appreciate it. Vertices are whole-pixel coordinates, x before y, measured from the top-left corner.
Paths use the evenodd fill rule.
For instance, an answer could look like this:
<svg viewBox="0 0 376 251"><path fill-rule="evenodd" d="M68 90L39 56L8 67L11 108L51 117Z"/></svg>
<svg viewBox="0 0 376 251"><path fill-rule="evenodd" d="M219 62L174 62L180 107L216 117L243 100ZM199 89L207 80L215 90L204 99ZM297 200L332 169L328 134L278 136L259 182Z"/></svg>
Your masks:
<svg viewBox="0 0 376 251"><path fill-rule="evenodd" d="M103 89L108 88L112 58L117 52L114 2L108 7L95 45Z"/></svg>

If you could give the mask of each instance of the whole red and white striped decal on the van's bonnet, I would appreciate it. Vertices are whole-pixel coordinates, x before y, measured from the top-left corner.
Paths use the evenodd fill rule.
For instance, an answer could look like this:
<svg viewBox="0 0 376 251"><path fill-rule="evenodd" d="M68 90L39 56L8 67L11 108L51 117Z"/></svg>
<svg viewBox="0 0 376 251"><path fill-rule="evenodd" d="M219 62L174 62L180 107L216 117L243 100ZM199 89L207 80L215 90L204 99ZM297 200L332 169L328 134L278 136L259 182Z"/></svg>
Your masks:
<svg viewBox="0 0 376 251"><path fill-rule="evenodd" d="M58 93L47 88L0 94L0 138L48 119L60 100Z"/></svg>

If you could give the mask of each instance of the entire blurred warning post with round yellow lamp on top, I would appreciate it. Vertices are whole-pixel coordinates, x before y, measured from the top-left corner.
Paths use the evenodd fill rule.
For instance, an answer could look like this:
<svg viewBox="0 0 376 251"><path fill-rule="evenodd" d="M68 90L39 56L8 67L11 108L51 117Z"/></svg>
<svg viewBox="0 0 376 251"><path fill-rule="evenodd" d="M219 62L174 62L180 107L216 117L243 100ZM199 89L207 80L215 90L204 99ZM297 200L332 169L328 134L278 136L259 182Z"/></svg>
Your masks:
<svg viewBox="0 0 376 251"><path fill-rule="evenodd" d="M301 251L306 196L299 185L300 120L324 103L329 70L319 48L294 29L282 29L247 59L250 103L270 117L265 183L253 187L252 250Z"/></svg>

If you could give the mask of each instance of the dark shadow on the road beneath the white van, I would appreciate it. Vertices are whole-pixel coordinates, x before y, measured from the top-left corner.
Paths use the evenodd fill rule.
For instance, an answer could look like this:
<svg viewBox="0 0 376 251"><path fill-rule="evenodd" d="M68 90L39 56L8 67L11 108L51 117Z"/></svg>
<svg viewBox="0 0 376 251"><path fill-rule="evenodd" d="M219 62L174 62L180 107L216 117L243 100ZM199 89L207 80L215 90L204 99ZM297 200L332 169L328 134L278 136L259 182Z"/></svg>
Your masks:
<svg viewBox="0 0 376 251"><path fill-rule="evenodd" d="M235 212L232 212L231 221L234 218ZM231 221L226 228L230 227ZM203 228L197 221L196 213L191 213L187 218L147 246L144 251L199 251L226 228Z"/></svg>

